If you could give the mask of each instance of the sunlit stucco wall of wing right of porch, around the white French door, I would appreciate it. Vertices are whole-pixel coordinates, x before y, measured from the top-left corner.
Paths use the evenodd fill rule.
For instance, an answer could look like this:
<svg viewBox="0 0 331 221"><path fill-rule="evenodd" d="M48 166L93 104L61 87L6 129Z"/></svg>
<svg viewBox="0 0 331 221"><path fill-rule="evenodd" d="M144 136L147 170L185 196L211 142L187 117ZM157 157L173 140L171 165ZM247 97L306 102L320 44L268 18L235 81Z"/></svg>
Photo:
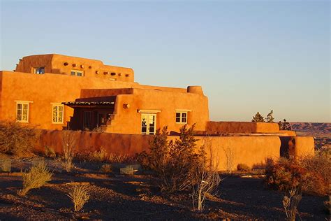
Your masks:
<svg viewBox="0 0 331 221"><path fill-rule="evenodd" d="M123 104L129 104L130 107L123 108ZM156 113L156 127L168 126L168 131L179 131L183 126L175 122L176 110L191 110L188 112L187 123L189 126L196 123L196 130L204 130L205 124L209 121L208 99L203 95L133 89L133 94L117 96L116 117L112 120L112 127L108 132L140 134L139 111L143 110L159 110L160 112Z"/></svg>

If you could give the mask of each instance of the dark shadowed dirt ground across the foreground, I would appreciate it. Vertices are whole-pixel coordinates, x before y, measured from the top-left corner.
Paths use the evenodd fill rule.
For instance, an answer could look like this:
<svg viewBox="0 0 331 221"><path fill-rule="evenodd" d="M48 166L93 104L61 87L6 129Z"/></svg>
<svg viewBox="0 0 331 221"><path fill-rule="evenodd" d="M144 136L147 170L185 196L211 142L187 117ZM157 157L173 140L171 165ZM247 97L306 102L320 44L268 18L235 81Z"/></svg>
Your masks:
<svg viewBox="0 0 331 221"><path fill-rule="evenodd" d="M72 173L61 162L46 159L54 171L52 181L20 197L21 169L41 158L13 160L12 173L0 173L0 220L285 220L282 193L268 190L262 178L223 176L219 197L207 201L205 211L192 211L188 193L160 194L147 175L101 173L102 163L76 162ZM71 182L89 183L89 201L80 213L73 212L67 196ZM325 197L304 195L299 205L302 220L329 220L323 210Z"/></svg>

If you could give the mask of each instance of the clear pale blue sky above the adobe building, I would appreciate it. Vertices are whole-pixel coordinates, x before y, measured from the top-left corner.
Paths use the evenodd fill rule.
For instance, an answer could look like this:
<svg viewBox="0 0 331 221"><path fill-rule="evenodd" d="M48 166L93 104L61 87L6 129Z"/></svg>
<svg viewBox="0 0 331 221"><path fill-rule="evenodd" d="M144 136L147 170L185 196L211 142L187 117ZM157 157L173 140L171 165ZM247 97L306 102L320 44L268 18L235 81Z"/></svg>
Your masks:
<svg viewBox="0 0 331 221"><path fill-rule="evenodd" d="M141 84L202 85L211 120L330 122L330 1L0 1L0 70L101 59Z"/></svg>

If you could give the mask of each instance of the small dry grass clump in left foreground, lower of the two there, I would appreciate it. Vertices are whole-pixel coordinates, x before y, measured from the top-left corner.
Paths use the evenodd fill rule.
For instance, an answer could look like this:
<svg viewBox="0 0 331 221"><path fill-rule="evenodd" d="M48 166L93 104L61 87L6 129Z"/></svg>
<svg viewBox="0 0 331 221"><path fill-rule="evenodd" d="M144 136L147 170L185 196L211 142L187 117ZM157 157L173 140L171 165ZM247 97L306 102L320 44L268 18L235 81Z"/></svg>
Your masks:
<svg viewBox="0 0 331 221"><path fill-rule="evenodd" d="M74 211L78 212L89 201L89 187L87 185L73 185L68 197L73 201Z"/></svg>

